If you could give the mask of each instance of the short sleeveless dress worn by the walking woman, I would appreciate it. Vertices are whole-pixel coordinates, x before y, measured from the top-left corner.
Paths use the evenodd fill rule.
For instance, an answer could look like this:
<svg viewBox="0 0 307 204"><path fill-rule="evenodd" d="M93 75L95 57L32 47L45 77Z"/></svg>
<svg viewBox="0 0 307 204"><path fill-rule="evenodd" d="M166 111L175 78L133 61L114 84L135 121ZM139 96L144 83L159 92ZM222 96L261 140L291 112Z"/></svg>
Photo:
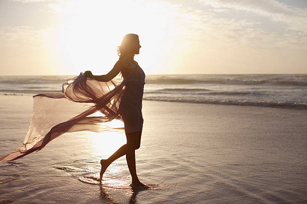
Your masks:
<svg viewBox="0 0 307 204"><path fill-rule="evenodd" d="M124 121L125 132L142 131L142 98L145 84L145 73L142 68L129 60L131 71L127 78L125 90L123 92L119 113Z"/></svg>

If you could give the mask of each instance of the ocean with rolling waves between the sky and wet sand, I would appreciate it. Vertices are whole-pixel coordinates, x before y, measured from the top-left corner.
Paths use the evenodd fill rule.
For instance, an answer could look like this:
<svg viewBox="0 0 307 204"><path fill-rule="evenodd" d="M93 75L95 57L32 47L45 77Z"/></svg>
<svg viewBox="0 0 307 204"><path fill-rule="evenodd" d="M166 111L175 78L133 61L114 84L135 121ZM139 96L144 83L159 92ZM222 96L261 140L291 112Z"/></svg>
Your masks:
<svg viewBox="0 0 307 204"><path fill-rule="evenodd" d="M0 94L60 93L70 77L0 76ZM160 74L145 82L144 100L307 108L307 74Z"/></svg>

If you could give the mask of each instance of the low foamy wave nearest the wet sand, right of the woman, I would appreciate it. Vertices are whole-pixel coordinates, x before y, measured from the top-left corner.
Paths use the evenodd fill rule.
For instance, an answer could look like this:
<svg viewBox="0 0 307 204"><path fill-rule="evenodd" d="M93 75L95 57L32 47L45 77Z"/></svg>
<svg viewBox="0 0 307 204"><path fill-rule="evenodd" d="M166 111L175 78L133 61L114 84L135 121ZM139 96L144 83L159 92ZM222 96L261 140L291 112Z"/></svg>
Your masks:
<svg viewBox="0 0 307 204"><path fill-rule="evenodd" d="M168 102L189 102L205 104L224 104L224 105L251 105L262 107L284 107L284 108L302 108L307 109L306 102L286 102L286 101L263 101L263 100L229 100L229 99L184 99L168 97L143 97L143 100L168 101Z"/></svg>

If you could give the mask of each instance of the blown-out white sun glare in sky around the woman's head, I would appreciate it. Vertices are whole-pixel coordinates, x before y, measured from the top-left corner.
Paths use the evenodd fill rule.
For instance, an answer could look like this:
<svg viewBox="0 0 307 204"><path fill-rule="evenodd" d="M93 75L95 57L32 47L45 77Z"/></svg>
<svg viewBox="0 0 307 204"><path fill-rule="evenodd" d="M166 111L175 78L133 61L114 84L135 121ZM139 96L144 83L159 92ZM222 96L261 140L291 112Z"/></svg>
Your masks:
<svg viewBox="0 0 307 204"><path fill-rule="evenodd" d="M63 74L108 72L118 59L116 46L127 33L140 36L141 54L135 59L146 73L157 73L159 61L166 57L162 50L175 51L172 44L181 27L170 16L176 17L176 10L154 1L147 1L147 6L143 1L93 2L67 0L50 5L61 19L52 46L65 67Z"/></svg>

